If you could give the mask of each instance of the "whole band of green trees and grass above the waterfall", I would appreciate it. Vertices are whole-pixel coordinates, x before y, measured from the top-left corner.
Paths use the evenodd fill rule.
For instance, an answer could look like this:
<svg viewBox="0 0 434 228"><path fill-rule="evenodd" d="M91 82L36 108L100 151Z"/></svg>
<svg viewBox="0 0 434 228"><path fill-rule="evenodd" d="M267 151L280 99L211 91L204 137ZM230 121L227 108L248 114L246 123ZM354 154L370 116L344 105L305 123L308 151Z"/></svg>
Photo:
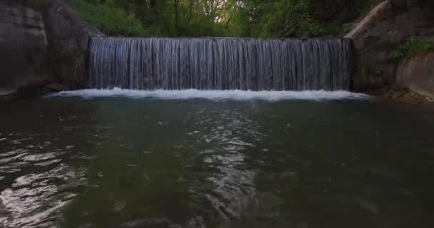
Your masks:
<svg viewBox="0 0 434 228"><path fill-rule="evenodd" d="M336 36L380 0L69 0L114 36Z"/></svg>

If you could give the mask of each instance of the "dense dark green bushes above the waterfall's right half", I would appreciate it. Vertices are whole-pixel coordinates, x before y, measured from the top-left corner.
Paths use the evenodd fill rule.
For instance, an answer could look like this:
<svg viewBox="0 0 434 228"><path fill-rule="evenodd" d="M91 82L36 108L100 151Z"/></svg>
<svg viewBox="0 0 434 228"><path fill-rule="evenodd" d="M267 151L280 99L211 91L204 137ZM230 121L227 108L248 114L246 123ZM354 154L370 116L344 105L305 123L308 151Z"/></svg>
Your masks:
<svg viewBox="0 0 434 228"><path fill-rule="evenodd" d="M350 31L353 21L379 1L243 0L235 26L253 37L336 36Z"/></svg>

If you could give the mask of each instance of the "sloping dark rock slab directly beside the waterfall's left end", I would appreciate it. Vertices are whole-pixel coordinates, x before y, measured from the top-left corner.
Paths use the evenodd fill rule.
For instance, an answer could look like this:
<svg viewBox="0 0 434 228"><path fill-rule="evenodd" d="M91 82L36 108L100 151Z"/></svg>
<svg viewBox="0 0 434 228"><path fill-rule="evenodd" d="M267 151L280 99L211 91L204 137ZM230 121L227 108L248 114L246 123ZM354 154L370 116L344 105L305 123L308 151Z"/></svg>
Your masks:
<svg viewBox="0 0 434 228"><path fill-rule="evenodd" d="M89 81L87 53L89 38L101 33L87 26L66 2L46 1L43 10L49 43L49 62L59 83L82 88Z"/></svg>

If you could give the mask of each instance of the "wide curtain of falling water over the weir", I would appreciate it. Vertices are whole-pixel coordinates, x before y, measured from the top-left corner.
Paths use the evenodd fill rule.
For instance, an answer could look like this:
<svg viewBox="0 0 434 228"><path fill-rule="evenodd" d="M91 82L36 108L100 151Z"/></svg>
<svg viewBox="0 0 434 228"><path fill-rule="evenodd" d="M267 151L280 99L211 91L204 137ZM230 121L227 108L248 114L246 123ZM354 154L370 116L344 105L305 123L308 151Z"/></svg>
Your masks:
<svg viewBox="0 0 434 228"><path fill-rule="evenodd" d="M91 39L91 88L348 90L345 38Z"/></svg>

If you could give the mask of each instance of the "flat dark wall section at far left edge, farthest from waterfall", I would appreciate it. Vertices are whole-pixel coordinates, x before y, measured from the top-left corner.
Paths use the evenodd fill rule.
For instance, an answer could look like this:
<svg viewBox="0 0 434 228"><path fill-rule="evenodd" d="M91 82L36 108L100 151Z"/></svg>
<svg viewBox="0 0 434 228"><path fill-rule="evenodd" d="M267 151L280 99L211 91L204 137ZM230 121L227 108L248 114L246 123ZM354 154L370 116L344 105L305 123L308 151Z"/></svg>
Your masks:
<svg viewBox="0 0 434 228"><path fill-rule="evenodd" d="M0 1L0 72L0 95L50 79L42 16L16 1Z"/></svg>

